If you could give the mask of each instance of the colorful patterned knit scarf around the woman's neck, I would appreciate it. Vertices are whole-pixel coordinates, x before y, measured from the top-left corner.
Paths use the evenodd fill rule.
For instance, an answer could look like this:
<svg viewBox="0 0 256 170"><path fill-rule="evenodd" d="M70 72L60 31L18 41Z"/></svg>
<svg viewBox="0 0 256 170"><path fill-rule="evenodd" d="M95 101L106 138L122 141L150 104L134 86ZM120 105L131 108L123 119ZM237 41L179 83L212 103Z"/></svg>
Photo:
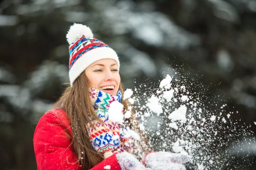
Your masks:
<svg viewBox="0 0 256 170"><path fill-rule="evenodd" d="M105 93L103 91L90 88L90 97L93 102L94 110L102 125L97 120L91 120L94 128L87 122L87 132L94 149L99 153L123 152L131 149L129 139L125 137L125 127L121 127L119 123L112 122L108 119L108 110L112 102L122 102L122 92L118 91L116 96Z"/></svg>

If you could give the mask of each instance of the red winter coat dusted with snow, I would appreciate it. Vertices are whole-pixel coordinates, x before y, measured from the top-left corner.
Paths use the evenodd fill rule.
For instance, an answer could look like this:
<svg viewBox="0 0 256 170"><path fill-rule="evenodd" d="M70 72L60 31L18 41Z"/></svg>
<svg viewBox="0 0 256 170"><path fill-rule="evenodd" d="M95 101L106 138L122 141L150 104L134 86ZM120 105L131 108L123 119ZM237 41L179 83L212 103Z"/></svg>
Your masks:
<svg viewBox="0 0 256 170"><path fill-rule="evenodd" d="M38 170L82 170L65 130L72 134L67 114L61 109L50 110L41 117L33 139ZM121 170L116 154L91 170L104 170L106 165L110 165L111 170Z"/></svg>

